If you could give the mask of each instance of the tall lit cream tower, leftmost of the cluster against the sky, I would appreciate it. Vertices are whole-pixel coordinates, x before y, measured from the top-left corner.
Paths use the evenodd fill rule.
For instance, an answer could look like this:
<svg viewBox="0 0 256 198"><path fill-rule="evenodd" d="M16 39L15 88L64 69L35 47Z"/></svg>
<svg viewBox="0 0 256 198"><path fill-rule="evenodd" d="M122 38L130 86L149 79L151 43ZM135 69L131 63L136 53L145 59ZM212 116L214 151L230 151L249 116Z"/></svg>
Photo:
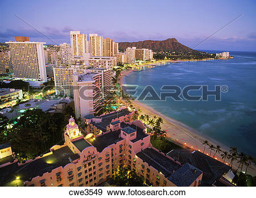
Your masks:
<svg viewBox="0 0 256 198"><path fill-rule="evenodd" d="M73 56L82 56L84 53L89 53L87 35L80 31L70 32L71 54Z"/></svg>

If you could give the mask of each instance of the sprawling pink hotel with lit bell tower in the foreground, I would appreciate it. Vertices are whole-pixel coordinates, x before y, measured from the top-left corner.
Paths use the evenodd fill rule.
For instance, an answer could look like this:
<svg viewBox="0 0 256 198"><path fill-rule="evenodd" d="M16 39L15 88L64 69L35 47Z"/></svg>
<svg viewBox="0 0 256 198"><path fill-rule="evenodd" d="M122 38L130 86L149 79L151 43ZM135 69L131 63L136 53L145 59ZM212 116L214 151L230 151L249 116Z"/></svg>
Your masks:
<svg viewBox="0 0 256 198"><path fill-rule="evenodd" d="M110 180L119 165L128 166L153 186L199 186L203 172L152 147L146 127L133 121L133 115L127 109L87 115L85 137L71 117L64 145L25 163L0 165L0 186L98 186Z"/></svg>

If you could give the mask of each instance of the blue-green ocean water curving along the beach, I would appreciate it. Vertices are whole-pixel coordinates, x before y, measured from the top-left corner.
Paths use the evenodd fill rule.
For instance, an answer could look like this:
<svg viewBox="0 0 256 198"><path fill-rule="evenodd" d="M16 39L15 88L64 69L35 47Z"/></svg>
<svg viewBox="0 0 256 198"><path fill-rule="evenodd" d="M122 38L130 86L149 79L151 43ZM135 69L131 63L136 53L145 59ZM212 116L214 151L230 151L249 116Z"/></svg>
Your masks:
<svg viewBox="0 0 256 198"><path fill-rule="evenodd" d="M211 90L215 85L227 85L229 90L221 94L220 102L214 101L214 96L205 102L177 102L171 98L141 102L256 157L256 52L230 54L233 59L181 62L134 71L124 81L126 87L138 85L138 94L146 85L153 86L158 93L163 85L208 85Z"/></svg>

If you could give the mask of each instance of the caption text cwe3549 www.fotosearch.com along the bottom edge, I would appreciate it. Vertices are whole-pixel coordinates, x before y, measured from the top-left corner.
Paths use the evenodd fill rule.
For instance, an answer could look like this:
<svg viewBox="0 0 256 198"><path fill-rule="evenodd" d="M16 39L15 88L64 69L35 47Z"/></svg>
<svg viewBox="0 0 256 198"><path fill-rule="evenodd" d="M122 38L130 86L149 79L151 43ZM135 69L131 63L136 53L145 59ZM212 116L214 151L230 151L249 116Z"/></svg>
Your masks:
<svg viewBox="0 0 256 198"><path fill-rule="evenodd" d="M69 191L69 195L108 195L108 196L182 196L186 195L185 191L167 191L166 189L160 190L138 190L138 189L127 189L127 190L106 190L106 193L102 189L84 189L84 190L73 190Z"/></svg>

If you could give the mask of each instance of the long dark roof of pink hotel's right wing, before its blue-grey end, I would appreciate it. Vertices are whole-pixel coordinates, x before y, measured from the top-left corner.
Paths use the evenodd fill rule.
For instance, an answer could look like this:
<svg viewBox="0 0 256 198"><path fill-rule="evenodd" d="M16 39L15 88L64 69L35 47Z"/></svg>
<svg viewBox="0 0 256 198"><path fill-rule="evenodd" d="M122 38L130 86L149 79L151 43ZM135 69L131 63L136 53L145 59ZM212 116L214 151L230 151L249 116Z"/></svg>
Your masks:
<svg viewBox="0 0 256 198"><path fill-rule="evenodd" d="M177 171L181 167L179 164L151 148L144 149L136 155L141 158L143 162L147 162L148 165L162 172L166 178L174 174L174 171Z"/></svg>

